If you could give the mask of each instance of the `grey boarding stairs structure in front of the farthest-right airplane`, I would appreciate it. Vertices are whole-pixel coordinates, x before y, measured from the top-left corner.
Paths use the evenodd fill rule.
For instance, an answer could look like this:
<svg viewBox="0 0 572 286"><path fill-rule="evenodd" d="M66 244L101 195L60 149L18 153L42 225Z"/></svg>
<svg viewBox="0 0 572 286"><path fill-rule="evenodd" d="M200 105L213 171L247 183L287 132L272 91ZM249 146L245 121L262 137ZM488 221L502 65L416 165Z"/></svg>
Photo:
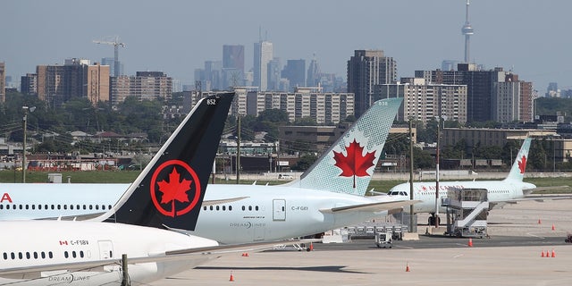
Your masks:
<svg viewBox="0 0 572 286"><path fill-rule="evenodd" d="M486 189L449 189L442 206L447 207L447 233L450 236L487 236L489 200Z"/></svg>

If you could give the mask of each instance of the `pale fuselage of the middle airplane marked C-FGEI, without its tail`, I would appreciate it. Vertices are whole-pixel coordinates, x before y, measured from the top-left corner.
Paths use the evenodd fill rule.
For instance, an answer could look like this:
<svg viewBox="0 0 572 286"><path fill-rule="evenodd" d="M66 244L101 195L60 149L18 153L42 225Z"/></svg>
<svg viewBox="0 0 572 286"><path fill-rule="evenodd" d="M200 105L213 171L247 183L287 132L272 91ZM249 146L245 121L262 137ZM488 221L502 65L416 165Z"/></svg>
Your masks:
<svg viewBox="0 0 572 286"><path fill-rule="evenodd" d="M30 189L21 189L21 184L0 184L4 197L8 194L12 201L4 199L1 202L0 220L54 218L102 212L114 205L128 185L25 186ZM378 201L378 198L330 191L223 184L211 184L206 188L205 201L229 198L242 199L216 206L203 206L196 229L190 233L224 244L284 240L329 231L352 223L363 223L372 217L386 214L384 211L323 212L321 210L333 207ZM102 210L102 206L105 209Z"/></svg>

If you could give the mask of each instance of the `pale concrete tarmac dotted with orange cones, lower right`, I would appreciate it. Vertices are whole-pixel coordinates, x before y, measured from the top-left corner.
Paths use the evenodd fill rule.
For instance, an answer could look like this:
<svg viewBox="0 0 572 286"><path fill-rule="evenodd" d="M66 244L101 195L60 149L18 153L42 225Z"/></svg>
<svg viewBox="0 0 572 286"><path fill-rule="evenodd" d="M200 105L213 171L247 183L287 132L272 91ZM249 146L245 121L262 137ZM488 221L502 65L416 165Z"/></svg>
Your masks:
<svg viewBox="0 0 572 286"><path fill-rule="evenodd" d="M564 242L571 204L493 209L491 238L473 239L472 247L466 238L425 236L426 225L419 225L420 240L394 241L391 249L354 240L314 244L311 252L231 254L150 285L572 285L572 244Z"/></svg>

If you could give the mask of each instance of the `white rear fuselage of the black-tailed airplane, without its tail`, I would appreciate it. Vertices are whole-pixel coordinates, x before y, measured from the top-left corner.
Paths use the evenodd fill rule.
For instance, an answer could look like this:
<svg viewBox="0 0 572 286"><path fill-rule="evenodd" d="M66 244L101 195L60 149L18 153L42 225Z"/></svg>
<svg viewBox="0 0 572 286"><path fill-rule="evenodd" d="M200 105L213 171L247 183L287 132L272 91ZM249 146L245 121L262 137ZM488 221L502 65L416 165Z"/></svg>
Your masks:
<svg viewBox="0 0 572 286"><path fill-rule="evenodd" d="M3 269L118 260L123 254L127 255L129 260L135 257L162 256L166 251L217 245L214 240L122 223L3 221L0 222L0 228L4 234L11 234L3 235L0 243ZM200 265L207 259L197 256L181 260L130 264L130 282L131 285L145 285ZM20 273L0 277L0 285L121 285L120 266Z"/></svg>

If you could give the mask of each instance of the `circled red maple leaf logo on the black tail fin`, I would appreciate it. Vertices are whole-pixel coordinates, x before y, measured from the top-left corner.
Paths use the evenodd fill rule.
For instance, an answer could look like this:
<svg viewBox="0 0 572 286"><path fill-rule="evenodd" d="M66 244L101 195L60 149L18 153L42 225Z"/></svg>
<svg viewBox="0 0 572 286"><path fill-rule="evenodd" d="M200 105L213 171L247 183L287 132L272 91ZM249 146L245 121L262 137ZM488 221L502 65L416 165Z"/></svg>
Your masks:
<svg viewBox="0 0 572 286"><path fill-rule="evenodd" d="M201 194L197 173L181 160L159 165L151 178L150 191L156 209L171 217L189 213Z"/></svg>

